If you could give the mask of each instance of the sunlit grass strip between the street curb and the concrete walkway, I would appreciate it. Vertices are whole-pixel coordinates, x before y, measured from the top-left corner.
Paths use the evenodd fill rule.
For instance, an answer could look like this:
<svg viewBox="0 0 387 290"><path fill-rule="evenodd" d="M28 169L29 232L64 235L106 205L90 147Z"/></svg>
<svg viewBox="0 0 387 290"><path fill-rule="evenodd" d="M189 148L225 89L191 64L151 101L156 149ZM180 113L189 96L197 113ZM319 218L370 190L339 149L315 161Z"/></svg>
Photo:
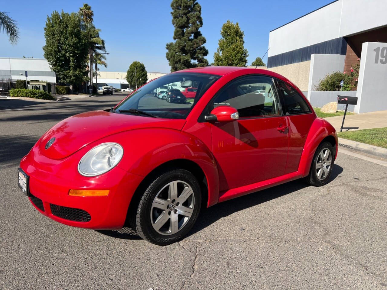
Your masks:
<svg viewBox="0 0 387 290"><path fill-rule="evenodd" d="M340 138L387 148L387 127L338 132Z"/></svg>

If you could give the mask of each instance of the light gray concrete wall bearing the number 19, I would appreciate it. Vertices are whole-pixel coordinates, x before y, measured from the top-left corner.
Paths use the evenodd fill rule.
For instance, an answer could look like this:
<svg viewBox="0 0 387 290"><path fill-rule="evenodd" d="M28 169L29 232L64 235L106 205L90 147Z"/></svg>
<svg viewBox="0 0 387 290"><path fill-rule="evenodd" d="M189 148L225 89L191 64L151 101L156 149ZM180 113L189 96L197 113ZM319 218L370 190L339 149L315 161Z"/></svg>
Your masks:
<svg viewBox="0 0 387 290"><path fill-rule="evenodd" d="M356 113L387 110L387 43L365 42L361 48Z"/></svg>

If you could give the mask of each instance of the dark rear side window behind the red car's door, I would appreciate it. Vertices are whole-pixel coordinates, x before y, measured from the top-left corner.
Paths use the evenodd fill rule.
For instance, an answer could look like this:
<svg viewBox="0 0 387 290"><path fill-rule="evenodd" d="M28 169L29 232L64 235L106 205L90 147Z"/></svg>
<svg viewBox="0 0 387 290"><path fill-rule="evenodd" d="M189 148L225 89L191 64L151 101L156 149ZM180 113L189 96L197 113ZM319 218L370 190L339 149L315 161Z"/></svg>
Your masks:
<svg viewBox="0 0 387 290"><path fill-rule="evenodd" d="M295 88L286 84L282 80L277 80L277 85L280 94L283 96L286 115L310 112L307 103L304 101L303 97L298 94Z"/></svg>

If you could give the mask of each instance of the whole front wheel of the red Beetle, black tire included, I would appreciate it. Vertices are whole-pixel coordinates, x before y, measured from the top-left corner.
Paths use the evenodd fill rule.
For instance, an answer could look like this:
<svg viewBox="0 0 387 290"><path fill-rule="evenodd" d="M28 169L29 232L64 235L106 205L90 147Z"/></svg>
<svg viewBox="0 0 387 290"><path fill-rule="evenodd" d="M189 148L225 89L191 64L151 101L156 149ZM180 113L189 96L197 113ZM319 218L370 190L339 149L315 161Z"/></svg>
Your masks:
<svg viewBox="0 0 387 290"><path fill-rule="evenodd" d="M154 179L142 194L132 227L143 239L166 246L190 231L201 203L200 185L191 172L168 171Z"/></svg>

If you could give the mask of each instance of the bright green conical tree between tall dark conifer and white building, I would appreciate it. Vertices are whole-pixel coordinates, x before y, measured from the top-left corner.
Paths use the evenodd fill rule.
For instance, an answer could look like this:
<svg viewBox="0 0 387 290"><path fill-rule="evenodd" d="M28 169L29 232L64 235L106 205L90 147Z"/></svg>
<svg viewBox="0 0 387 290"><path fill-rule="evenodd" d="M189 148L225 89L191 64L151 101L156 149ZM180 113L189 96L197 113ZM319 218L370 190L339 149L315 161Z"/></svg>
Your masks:
<svg viewBox="0 0 387 290"><path fill-rule="evenodd" d="M226 65L231 67L245 67L248 52L245 49L245 34L241 31L238 22L234 24L227 20L220 31L222 36L218 42L217 52L214 53L214 65Z"/></svg>

